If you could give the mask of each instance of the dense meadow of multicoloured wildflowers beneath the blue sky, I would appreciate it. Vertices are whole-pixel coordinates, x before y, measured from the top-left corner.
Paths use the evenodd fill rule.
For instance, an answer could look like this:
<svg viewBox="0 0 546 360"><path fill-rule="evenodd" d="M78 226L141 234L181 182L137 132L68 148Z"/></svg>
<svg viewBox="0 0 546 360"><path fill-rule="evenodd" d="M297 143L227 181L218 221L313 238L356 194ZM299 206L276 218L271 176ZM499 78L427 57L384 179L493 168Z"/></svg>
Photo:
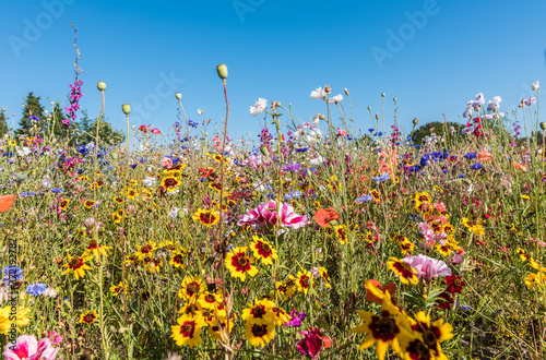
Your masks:
<svg viewBox="0 0 546 360"><path fill-rule="evenodd" d="M78 61L69 104L0 140L4 359L544 359L538 81L418 141L385 94L364 119L346 88L304 118L257 94L235 139L219 64L217 127L174 92L169 129L117 105L119 140L103 110L75 128L83 89L108 101Z"/></svg>

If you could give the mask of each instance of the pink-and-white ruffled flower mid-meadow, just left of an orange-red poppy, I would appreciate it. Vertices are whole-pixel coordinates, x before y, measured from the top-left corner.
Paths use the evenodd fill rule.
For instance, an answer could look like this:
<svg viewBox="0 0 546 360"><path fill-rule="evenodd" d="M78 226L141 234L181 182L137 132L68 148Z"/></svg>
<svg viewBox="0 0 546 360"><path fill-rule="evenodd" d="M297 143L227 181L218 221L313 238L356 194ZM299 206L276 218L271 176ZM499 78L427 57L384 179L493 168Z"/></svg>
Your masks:
<svg viewBox="0 0 546 360"><path fill-rule="evenodd" d="M238 226L257 225L259 227L272 228L277 224L277 205L274 200L269 203L260 204L253 211L239 216ZM281 227L299 229L307 225L307 216L298 215L294 207L281 203Z"/></svg>

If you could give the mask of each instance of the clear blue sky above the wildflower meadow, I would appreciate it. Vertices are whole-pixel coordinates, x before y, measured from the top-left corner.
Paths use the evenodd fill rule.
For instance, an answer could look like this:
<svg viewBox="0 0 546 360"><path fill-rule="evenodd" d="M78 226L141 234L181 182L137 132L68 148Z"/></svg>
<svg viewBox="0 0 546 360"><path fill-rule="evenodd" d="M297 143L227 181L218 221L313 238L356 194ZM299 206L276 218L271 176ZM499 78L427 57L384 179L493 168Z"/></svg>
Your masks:
<svg viewBox="0 0 546 360"><path fill-rule="evenodd" d="M507 110L531 95L534 81L546 86L545 14L543 0L9 1L0 27L0 107L19 121L31 91L43 104L47 97L67 104L73 22L82 108L98 115L96 83L105 81L105 113L117 129L124 129L121 104L129 103L136 125L166 131L177 120L175 91L191 119L202 119L202 108L219 123L225 108L215 68L224 62L234 135L260 131L248 111L259 97L292 103L301 120L324 113L309 94L325 84L334 95L349 89L363 130L370 127L367 107L380 112L382 92L391 122L396 97L407 131L415 117L425 123L444 112L456 121L478 92L500 95Z"/></svg>

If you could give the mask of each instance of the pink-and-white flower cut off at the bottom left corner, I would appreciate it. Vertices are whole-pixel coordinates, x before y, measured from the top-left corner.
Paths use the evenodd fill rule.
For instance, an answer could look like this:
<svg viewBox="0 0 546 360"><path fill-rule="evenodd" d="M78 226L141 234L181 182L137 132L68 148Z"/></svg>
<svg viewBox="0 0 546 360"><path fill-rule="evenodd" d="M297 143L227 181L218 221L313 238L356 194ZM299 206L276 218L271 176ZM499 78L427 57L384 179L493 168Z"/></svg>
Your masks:
<svg viewBox="0 0 546 360"><path fill-rule="evenodd" d="M45 337L36 340L33 335L17 337L15 346L8 343L3 352L4 360L54 360L59 349L51 346L51 340Z"/></svg>

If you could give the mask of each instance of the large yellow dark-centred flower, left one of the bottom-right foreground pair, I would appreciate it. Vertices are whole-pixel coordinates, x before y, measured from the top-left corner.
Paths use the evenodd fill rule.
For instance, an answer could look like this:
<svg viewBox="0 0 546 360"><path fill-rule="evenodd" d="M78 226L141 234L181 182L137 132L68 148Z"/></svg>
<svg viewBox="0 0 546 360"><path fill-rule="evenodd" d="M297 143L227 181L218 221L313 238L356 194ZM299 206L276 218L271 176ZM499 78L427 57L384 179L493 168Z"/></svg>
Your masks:
<svg viewBox="0 0 546 360"><path fill-rule="evenodd" d="M358 350L376 345L376 353L379 359L383 360L388 347L391 346L397 355L403 356L399 340L411 337L411 327L406 316L391 303L390 297L383 299L380 315L359 310L357 313L364 324L351 329L351 333L366 334Z"/></svg>

